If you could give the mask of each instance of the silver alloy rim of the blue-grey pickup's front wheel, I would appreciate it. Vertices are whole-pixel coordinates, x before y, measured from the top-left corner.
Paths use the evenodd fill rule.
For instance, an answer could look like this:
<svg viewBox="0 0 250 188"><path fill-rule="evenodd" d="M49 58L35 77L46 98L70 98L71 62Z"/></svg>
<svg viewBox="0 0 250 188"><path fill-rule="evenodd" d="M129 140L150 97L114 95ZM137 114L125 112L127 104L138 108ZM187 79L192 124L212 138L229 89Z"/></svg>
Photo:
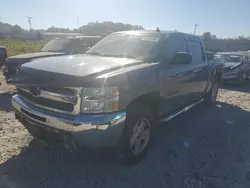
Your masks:
<svg viewBox="0 0 250 188"><path fill-rule="evenodd" d="M151 124L147 118L141 118L133 128L130 139L130 148L134 154L141 153L148 145L151 133Z"/></svg>

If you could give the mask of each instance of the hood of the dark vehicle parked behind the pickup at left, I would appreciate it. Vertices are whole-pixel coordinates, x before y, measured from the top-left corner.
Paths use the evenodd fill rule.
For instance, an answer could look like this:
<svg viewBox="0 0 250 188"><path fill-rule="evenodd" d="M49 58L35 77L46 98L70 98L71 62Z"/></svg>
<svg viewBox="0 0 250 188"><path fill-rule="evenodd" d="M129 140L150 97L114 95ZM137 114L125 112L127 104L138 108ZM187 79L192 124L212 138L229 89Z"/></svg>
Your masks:
<svg viewBox="0 0 250 188"><path fill-rule="evenodd" d="M8 65L20 65L23 63L27 63L33 59L36 59L36 58L60 56L60 55L64 55L64 53L59 53L59 52L27 53L27 54L20 54L20 55L11 56L7 59L6 62Z"/></svg>

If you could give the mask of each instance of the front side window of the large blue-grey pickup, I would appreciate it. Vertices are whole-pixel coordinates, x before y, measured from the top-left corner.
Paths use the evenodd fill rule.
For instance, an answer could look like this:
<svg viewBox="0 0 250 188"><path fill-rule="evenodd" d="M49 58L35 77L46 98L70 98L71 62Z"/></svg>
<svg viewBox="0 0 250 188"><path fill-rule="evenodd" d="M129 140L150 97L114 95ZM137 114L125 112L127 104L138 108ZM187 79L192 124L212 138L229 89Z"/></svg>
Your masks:
<svg viewBox="0 0 250 188"><path fill-rule="evenodd" d="M188 52L186 40L183 36L169 36L165 43L165 55L172 59L177 52Z"/></svg>

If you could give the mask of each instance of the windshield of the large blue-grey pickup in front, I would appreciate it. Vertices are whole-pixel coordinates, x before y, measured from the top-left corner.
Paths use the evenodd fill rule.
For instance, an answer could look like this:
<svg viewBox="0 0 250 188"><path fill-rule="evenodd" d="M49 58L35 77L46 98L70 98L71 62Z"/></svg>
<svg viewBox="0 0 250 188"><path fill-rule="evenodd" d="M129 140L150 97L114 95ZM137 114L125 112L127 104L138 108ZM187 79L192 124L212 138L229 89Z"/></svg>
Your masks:
<svg viewBox="0 0 250 188"><path fill-rule="evenodd" d="M114 33L93 46L87 53L101 56L152 59L159 52L163 35L157 33Z"/></svg>

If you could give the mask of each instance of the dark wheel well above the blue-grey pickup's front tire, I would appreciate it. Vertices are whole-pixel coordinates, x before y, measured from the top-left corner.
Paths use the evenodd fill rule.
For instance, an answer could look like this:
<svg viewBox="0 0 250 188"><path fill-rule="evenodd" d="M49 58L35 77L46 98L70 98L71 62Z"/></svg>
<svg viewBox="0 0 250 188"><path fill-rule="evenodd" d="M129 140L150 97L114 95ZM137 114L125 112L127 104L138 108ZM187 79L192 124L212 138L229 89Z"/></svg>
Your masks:
<svg viewBox="0 0 250 188"><path fill-rule="evenodd" d="M158 113L157 107L159 103L159 98L160 98L160 95L158 92L151 92L151 93L138 96L129 103L127 109L129 110L134 105L138 105L138 104L145 105L145 106L148 106L150 110L153 111L154 115L156 116Z"/></svg>

